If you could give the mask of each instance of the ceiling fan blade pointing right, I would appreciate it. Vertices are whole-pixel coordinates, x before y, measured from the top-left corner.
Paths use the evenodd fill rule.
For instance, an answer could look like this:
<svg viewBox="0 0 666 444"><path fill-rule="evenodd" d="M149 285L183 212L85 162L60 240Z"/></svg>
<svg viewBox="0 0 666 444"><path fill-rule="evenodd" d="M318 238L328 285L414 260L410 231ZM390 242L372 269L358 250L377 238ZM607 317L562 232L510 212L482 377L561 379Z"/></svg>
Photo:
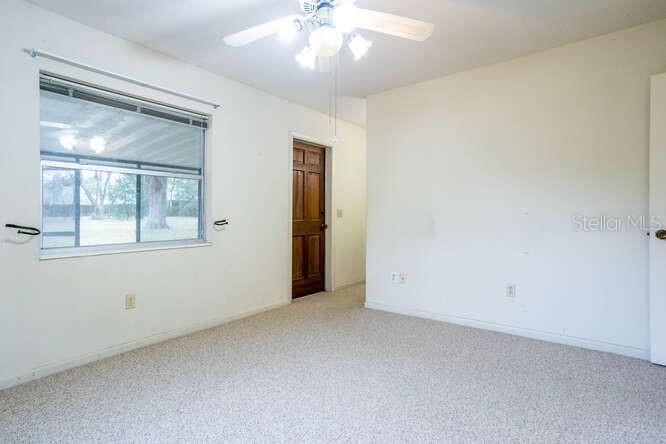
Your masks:
<svg viewBox="0 0 666 444"><path fill-rule="evenodd" d="M435 30L435 25L432 23L362 8L358 8L356 25L369 31L416 40L417 42L427 40Z"/></svg>

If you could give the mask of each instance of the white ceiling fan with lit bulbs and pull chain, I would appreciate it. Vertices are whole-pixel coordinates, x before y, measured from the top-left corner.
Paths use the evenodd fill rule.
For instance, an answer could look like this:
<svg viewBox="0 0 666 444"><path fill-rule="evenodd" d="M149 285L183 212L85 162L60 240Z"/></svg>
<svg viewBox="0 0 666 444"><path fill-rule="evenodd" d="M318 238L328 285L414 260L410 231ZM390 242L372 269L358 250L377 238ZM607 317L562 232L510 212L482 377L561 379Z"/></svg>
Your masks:
<svg viewBox="0 0 666 444"><path fill-rule="evenodd" d="M309 44L296 56L305 68L314 69L318 57L333 57L345 40L355 60L363 58L372 42L356 29L380 32L396 37L423 42L433 33L435 25L385 12L357 7L355 0L298 0L302 15L288 15L244 31L229 35L224 42L229 46L244 46L257 40L279 35L291 40L299 32L309 34Z"/></svg>

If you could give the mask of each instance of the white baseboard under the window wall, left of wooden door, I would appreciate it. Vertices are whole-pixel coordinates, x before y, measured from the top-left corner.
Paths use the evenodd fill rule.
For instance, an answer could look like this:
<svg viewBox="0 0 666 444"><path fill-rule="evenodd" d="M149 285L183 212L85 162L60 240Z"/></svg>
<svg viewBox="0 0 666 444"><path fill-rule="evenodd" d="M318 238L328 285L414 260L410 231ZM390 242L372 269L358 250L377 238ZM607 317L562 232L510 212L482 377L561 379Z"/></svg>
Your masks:
<svg viewBox="0 0 666 444"><path fill-rule="evenodd" d="M196 333L203 330L208 330L210 328L218 327L222 324L228 322L236 321L238 319L247 318L259 313L264 313L266 311L275 310L280 307L291 304L291 300L279 302L276 304L266 305L263 307L255 308L252 310L244 311L239 314L226 316L223 318L210 319L206 322L197 323L183 328L177 328L174 330L168 330L165 332L157 333L154 335L147 336L142 339L137 339L135 341L125 342L122 344L113 345L111 347L104 348L102 350L86 353L75 358L66 359L64 361L59 361L51 364L45 364L39 367L32 369L29 373L16 376L9 379L0 380L0 390L13 387L19 384L23 384L28 381L35 379L43 378L44 376L52 375L54 373L59 373L61 371L80 367L85 364L89 364L94 361L99 361L104 358L111 356L119 355L137 348L146 347L148 345L157 344L159 342L168 341L169 339L178 338L181 336L187 336L192 333Z"/></svg>

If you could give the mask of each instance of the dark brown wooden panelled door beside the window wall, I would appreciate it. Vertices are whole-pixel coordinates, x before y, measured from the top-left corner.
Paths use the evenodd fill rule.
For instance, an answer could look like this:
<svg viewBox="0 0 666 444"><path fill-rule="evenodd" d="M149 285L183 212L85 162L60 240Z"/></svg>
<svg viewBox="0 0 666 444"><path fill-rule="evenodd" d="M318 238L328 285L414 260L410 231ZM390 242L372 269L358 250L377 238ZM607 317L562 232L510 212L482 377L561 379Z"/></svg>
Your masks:
<svg viewBox="0 0 666 444"><path fill-rule="evenodd" d="M292 296L324 291L325 250L324 148L294 141Z"/></svg>

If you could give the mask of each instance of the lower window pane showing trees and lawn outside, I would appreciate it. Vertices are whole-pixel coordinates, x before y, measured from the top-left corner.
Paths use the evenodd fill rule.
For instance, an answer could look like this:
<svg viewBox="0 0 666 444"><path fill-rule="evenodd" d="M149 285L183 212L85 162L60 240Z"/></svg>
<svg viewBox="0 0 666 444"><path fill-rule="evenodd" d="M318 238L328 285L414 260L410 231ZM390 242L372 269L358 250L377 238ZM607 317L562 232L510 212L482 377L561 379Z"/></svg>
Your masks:
<svg viewBox="0 0 666 444"><path fill-rule="evenodd" d="M199 180L45 169L42 195L45 248L199 237Z"/></svg>

